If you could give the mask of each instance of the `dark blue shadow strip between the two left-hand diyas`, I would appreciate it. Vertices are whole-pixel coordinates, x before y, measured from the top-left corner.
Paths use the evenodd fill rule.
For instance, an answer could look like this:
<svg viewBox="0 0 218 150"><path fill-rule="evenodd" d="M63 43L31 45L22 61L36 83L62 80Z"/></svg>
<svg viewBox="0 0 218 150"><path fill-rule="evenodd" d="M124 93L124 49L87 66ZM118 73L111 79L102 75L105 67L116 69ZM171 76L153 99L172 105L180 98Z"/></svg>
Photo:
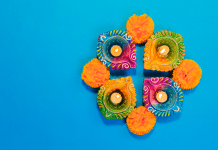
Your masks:
<svg viewBox="0 0 218 150"><path fill-rule="evenodd" d="M115 70L115 69L110 69L110 74L112 76L132 76L132 75L136 75L136 69L135 68L131 68L131 69L127 69L127 70Z"/></svg>

